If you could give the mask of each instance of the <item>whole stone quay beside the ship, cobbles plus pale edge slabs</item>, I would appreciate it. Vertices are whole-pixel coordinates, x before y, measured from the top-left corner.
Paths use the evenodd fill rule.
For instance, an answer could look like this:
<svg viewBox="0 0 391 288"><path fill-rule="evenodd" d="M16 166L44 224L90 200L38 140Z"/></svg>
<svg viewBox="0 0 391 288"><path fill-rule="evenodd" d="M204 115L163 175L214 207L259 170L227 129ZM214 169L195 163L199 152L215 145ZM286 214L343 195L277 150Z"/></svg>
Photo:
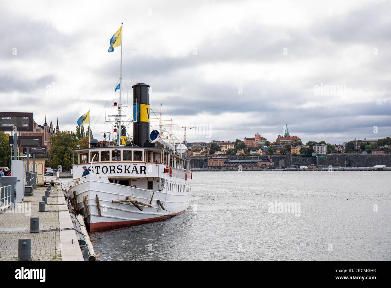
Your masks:
<svg viewBox="0 0 391 288"><path fill-rule="evenodd" d="M46 187L37 187L32 196L25 196L19 209L0 213L0 261L18 260L18 239L31 238L31 261L84 261L77 241L65 197L61 189L52 188L45 210L39 212L39 202ZM65 205L63 205L65 204ZM39 233L30 233L30 217L39 217ZM52 231L43 231L58 229ZM73 238L73 244L72 244Z"/></svg>

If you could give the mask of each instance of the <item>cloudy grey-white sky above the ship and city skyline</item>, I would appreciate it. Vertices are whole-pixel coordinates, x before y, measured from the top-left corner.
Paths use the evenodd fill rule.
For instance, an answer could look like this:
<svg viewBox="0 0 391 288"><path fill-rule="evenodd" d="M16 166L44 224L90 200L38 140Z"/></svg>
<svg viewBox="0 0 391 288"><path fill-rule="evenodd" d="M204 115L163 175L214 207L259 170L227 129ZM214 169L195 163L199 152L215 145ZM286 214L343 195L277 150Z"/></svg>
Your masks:
<svg viewBox="0 0 391 288"><path fill-rule="evenodd" d="M384 138L390 15L390 1L0 0L0 110L75 130L91 109L101 139L119 96L120 47L107 50L124 22L128 117L131 85L147 83L151 108L198 127L188 141L274 141L285 123L304 142Z"/></svg>

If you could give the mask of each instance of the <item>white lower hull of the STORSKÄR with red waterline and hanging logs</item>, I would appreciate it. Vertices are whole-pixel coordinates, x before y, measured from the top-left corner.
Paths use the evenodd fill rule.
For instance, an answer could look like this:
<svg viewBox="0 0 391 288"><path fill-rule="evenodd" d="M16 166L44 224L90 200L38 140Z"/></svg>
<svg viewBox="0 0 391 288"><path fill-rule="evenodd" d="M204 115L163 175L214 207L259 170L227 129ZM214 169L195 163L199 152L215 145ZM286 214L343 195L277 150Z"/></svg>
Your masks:
<svg viewBox="0 0 391 288"><path fill-rule="evenodd" d="M171 191L170 185L167 184L161 191L134 188L110 183L106 176L90 174L82 177L79 184L71 187L69 194L70 197L76 195L77 211L83 214L86 223L90 226L90 231L93 232L159 221L177 215L188 208L192 192L183 189ZM152 208L141 206L142 211L140 211L130 202L113 202L113 200L124 199L147 203L152 205ZM97 206L97 200L99 200L100 209ZM158 204L158 200L164 209Z"/></svg>

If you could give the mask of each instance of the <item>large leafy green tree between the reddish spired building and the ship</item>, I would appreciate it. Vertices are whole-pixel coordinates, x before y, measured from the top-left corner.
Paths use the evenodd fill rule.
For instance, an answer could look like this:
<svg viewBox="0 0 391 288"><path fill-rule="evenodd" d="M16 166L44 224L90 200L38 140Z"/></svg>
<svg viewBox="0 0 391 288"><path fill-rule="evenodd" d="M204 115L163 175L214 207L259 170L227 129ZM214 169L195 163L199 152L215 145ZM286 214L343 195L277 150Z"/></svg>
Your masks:
<svg viewBox="0 0 391 288"><path fill-rule="evenodd" d="M71 131L60 131L56 136L51 137L50 162L51 167L61 165L63 170L72 167L72 149L76 148L76 135Z"/></svg>

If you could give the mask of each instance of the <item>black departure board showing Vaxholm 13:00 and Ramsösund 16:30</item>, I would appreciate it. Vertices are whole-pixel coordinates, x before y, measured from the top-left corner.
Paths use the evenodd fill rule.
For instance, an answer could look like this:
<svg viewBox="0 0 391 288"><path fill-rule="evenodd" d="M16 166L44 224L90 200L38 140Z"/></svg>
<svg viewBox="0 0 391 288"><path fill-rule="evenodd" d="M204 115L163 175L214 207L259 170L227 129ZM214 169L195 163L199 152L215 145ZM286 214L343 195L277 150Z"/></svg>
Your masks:
<svg viewBox="0 0 391 288"><path fill-rule="evenodd" d="M0 112L0 131L33 130L33 114L28 112Z"/></svg>

